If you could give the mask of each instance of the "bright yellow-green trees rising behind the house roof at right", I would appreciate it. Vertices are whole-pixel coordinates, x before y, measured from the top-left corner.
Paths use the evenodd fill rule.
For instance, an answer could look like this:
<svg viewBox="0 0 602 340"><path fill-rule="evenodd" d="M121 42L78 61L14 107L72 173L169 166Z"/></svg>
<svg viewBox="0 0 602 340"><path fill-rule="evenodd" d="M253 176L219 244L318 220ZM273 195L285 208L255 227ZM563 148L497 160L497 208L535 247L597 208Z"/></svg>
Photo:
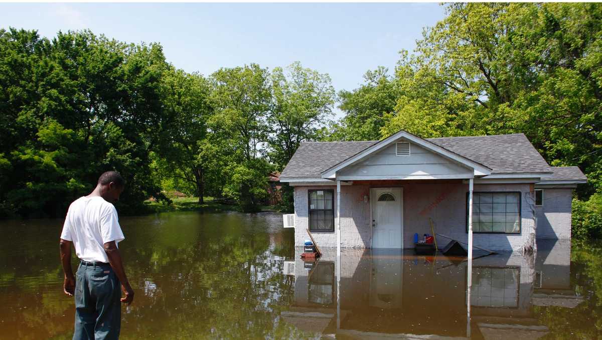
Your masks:
<svg viewBox="0 0 602 340"><path fill-rule="evenodd" d="M588 175L580 198L602 190L602 6L446 6L415 53L402 52L384 109L365 100L388 93L373 81L341 93L346 116L331 138L524 133L551 165Z"/></svg>

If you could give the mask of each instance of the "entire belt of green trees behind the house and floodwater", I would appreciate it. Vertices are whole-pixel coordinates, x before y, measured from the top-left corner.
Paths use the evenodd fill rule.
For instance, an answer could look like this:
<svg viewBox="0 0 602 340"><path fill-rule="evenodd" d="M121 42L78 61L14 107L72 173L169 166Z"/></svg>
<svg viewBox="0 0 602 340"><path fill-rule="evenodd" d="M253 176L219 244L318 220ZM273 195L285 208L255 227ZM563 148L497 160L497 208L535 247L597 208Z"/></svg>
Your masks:
<svg viewBox="0 0 602 340"><path fill-rule="evenodd" d="M128 183L125 212L166 199L164 190L255 210L270 172L303 140L375 140L400 129L524 133L550 165L586 173L580 200L599 197L602 6L445 6L394 70L367 71L361 86L337 94L327 74L299 62L189 74L158 43L1 30L0 215L62 215L109 169ZM332 122L337 102L344 116Z"/></svg>

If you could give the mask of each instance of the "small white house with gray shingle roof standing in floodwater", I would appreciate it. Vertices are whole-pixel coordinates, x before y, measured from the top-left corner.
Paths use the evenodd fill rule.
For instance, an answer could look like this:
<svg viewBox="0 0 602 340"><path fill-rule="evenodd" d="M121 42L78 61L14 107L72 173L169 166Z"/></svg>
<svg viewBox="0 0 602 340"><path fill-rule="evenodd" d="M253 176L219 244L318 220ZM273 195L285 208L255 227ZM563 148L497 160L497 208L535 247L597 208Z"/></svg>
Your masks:
<svg viewBox="0 0 602 340"><path fill-rule="evenodd" d="M548 165L522 133L424 139L402 130L378 141L303 142L280 181L294 186L285 226L297 246L307 229L339 250L413 248L415 234L434 231L512 252L571 238L572 193L586 177Z"/></svg>

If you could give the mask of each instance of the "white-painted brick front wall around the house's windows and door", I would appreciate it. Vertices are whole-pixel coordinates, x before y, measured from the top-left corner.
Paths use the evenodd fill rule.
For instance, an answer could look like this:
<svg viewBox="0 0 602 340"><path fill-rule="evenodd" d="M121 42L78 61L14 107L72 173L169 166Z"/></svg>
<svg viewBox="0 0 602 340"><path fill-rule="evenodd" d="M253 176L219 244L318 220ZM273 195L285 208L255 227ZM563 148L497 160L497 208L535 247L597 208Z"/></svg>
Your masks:
<svg viewBox="0 0 602 340"><path fill-rule="evenodd" d="M404 247L413 247L414 233L431 233L429 217L435 224L435 232L459 241L467 242L466 233L466 193L468 184L462 181L408 182L403 186L404 207ZM308 228L308 189L334 189L335 230L337 212L336 186L296 186L295 187L295 245L300 247L303 240L309 239ZM534 203L530 184L475 184L475 191L518 191L521 192L521 233L518 235L478 234L473 241L477 247L497 251L517 251L533 232ZM370 202L364 202L364 195L370 195L370 186L341 186L341 247L370 247ZM312 231L315 241L321 248L337 247L336 231ZM438 237L439 247L449 240Z"/></svg>

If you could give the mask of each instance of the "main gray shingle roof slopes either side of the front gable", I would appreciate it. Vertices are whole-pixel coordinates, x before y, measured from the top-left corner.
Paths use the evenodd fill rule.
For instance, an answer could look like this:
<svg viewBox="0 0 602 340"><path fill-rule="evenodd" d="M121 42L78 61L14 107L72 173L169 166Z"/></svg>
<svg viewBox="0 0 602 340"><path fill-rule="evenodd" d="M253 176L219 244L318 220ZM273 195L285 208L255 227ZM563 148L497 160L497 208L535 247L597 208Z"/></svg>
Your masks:
<svg viewBox="0 0 602 340"><path fill-rule="evenodd" d="M552 171L544 157L541 157L522 133L427 140L488 166L492 169L492 174ZM281 178L320 177L324 170L377 142L303 142L282 171Z"/></svg>

